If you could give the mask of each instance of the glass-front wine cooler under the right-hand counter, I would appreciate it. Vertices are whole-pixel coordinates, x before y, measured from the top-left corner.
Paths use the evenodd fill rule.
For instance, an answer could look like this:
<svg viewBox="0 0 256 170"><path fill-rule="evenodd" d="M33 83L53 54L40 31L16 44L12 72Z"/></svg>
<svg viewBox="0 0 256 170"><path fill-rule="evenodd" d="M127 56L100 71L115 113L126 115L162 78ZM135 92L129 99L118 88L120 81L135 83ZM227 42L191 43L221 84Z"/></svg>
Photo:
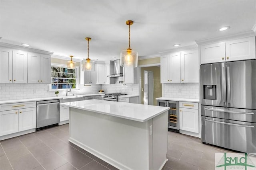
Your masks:
<svg viewBox="0 0 256 170"><path fill-rule="evenodd" d="M179 102L158 100L157 106L170 107L168 110L168 130L179 133Z"/></svg>

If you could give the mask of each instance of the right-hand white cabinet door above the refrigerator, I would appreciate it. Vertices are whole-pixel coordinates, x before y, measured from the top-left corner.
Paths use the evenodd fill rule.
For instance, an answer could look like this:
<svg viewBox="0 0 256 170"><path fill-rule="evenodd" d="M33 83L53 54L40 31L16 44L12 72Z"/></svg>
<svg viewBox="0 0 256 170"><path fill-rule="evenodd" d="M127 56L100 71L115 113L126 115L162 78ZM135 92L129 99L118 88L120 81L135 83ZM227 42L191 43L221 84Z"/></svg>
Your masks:
<svg viewBox="0 0 256 170"><path fill-rule="evenodd" d="M226 41L226 61L255 59L255 37Z"/></svg>

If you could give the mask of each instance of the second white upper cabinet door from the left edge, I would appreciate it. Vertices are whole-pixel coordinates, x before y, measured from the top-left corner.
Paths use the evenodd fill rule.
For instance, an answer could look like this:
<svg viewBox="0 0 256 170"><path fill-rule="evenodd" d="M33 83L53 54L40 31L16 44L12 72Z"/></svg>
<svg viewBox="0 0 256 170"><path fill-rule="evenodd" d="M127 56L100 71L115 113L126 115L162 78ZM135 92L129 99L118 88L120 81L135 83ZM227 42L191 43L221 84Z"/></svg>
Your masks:
<svg viewBox="0 0 256 170"><path fill-rule="evenodd" d="M28 53L14 50L12 63L12 82L28 83Z"/></svg>

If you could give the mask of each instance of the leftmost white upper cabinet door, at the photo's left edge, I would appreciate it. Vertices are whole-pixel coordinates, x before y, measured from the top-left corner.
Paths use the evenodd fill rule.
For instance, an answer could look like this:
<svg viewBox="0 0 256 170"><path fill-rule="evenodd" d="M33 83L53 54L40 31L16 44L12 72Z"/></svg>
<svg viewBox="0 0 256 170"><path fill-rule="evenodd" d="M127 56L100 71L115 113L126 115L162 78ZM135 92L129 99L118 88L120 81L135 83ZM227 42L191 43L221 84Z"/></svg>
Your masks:
<svg viewBox="0 0 256 170"><path fill-rule="evenodd" d="M0 48L0 83L12 83L12 49Z"/></svg>

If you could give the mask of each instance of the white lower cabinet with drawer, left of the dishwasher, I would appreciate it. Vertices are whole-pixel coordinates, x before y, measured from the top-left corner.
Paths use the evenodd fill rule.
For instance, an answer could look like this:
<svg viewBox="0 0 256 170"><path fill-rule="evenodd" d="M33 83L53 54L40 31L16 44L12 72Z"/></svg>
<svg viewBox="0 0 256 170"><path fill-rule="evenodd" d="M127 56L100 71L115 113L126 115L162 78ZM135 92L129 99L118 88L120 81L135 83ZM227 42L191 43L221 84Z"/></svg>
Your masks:
<svg viewBox="0 0 256 170"><path fill-rule="evenodd" d="M36 107L26 108L30 106L30 103L28 102L28 105L26 103L12 104L12 108L19 107L15 110L4 110L6 108L4 106L10 104L1 105L0 110L4 111L0 111L0 136L36 128Z"/></svg>

